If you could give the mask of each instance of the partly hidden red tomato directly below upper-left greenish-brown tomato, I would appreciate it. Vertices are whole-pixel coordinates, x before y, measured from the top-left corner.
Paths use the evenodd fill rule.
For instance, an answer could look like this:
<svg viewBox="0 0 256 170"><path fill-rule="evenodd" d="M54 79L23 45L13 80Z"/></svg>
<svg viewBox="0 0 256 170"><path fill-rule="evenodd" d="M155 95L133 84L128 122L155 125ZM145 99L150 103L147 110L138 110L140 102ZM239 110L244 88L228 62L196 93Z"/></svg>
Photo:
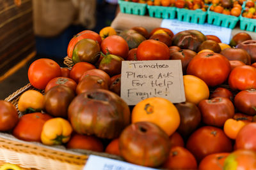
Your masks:
<svg viewBox="0 0 256 170"><path fill-rule="evenodd" d="M89 62L77 62L70 70L70 78L78 83L79 78L89 69L96 69L96 67Z"/></svg>

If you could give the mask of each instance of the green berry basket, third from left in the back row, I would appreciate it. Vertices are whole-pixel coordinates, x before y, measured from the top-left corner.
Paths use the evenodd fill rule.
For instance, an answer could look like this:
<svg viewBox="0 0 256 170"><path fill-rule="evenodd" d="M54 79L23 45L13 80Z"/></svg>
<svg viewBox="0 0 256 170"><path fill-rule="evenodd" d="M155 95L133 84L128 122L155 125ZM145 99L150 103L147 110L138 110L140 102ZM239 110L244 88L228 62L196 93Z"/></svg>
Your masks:
<svg viewBox="0 0 256 170"><path fill-rule="evenodd" d="M191 22L195 24L204 24L207 15L206 11L188 10L185 8L177 8L177 19L180 21Z"/></svg>

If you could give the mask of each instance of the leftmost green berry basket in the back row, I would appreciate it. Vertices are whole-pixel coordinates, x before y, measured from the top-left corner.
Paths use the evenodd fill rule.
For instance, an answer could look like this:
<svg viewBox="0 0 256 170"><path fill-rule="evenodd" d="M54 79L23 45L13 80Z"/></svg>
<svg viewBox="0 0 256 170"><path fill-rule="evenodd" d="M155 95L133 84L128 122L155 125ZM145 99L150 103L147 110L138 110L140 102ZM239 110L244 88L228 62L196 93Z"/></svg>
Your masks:
<svg viewBox="0 0 256 170"><path fill-rule="evenodd" d="M145 15L147 10L147 4L145 3L133 3L124 0L118 0L120 11L122 13L129 13L134 15Z"/></svg>

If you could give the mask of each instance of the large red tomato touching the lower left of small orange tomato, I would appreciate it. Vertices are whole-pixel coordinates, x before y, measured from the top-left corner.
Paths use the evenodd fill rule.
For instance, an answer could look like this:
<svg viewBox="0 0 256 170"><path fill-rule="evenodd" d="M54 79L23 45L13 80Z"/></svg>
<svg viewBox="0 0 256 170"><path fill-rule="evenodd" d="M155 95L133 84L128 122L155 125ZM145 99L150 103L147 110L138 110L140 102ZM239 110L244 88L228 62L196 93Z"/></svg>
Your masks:
<svg viewBox="0 0 256 170"><path fill-rule="evenodd" d="M200 162L212 153L231 152L232 143L222 129L204 126L189 136L186 148Z"/></svg>

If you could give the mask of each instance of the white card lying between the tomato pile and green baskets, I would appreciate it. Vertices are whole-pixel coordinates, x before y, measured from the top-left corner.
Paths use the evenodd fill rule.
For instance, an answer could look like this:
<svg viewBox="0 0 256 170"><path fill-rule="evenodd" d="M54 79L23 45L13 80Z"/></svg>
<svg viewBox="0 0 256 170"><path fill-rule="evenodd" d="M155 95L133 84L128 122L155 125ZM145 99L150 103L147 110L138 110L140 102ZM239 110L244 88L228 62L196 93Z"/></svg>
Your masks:
<svg viewBox="0 0 256 170"><path fill-rule="evenodd" d="M189 29L195 29L201 31L205 35L214 35L220 38L222 43L229 44L231 39L232 29L221 27L211 24L194 24L190 22L179 21L177 19L163 19L161 27L168 28L172 30L173 34L177 34L180 31L185 31Z"/></svg>

